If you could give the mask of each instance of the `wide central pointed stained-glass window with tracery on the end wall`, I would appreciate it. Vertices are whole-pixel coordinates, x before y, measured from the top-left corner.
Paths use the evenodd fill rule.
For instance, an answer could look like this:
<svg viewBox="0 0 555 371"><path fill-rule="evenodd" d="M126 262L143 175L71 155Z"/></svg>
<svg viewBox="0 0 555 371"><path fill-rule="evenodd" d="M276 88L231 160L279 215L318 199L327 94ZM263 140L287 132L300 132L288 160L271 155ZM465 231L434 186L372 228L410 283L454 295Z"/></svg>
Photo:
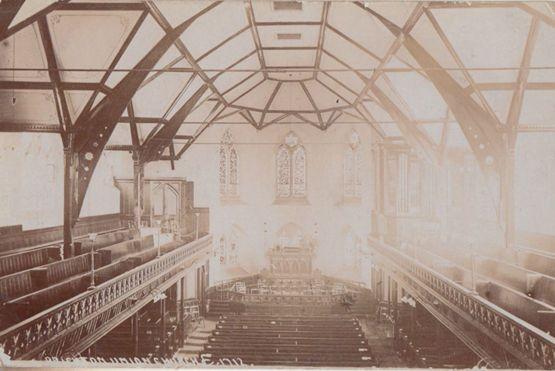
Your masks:
<svg viewBox="0 0 555 371"><path fill-rule="evenodd" d="M306 196L306 150L293 132L285 137L276 155L277 196L292 198Z"/></svg>

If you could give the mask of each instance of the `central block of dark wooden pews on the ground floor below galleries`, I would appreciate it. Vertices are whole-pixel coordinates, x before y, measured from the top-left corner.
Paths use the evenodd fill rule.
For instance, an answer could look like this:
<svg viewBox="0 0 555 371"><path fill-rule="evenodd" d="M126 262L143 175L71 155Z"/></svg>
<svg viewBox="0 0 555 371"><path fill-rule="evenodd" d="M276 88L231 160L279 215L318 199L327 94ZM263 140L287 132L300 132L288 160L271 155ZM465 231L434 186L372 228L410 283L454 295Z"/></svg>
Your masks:
<svg viewBox="0 0 555 371"><path fill-rule="evenodd" d="M200 355L261 366L375 365L358 320L348 315L222 315Z"/></svg>

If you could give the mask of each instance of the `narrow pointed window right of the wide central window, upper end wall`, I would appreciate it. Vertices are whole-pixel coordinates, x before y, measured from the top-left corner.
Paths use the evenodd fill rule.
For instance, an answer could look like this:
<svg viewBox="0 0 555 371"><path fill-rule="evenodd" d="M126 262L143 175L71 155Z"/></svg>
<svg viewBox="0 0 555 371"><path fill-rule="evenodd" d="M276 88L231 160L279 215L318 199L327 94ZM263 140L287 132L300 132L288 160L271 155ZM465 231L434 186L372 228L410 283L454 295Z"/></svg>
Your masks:
<svg viewBox="0 0 555 371"><path fill-rule="evenodd" d="M360 198L362 191L361 168L360 137L356 131L353 131L343 159L343 195L345 198Z"/></svg>

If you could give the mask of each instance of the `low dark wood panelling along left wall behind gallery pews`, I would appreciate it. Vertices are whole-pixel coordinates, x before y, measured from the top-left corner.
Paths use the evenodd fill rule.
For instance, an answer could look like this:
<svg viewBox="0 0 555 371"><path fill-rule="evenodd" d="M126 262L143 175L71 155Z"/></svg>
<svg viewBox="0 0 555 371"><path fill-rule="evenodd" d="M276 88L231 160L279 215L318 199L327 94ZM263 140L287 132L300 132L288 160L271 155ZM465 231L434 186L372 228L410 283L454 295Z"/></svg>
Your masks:
<svg viewBox="0 0 555 371"><path fill-rule="evenodd" d="M121 214L106 214L80 218L73 228L74 236L84 236L126 227ZM29 246L62 242L63 226L21 230L10 229L0 239L0 253Z"/></svg>

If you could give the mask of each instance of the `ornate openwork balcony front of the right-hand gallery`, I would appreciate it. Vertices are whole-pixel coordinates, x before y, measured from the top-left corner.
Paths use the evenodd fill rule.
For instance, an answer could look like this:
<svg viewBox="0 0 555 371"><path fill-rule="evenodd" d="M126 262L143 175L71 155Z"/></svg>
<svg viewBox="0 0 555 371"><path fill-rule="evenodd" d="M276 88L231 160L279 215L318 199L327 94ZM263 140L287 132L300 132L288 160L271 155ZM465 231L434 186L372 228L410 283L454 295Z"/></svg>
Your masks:
<svg viewBox="0 0 555 371"><path fill-rule="evenodd" d="M429 302L423 300L429 296L433 298L434 305L443 304L471 325L464 328L474 327L482 333L482 339L483 335L486 335L498 344L498 348L504 349L527 367L548 370L555 368L553 336L473 294L389 245L370 238L369 246L377 258L375 263L398 279L398 283L411 294L415 293L415 299L425 307L434 310L428 305ZM437 316L440 314L437 312L432 314ZM503 365L503 362L500 361L499 364Z"/></svg>

